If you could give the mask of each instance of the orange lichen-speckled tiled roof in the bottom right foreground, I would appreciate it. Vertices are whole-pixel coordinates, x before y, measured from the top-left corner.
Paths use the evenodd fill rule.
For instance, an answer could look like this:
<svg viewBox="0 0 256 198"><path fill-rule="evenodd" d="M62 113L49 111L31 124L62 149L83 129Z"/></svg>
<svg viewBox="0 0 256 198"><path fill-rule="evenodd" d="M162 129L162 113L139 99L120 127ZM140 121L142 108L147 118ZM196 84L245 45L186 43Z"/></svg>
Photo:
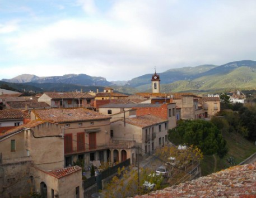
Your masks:
<svg viewBox="0 0 256 198"><path fill-rule="evenodd" d="M230 167L136 197L256 197L256 163Z"/></svg>

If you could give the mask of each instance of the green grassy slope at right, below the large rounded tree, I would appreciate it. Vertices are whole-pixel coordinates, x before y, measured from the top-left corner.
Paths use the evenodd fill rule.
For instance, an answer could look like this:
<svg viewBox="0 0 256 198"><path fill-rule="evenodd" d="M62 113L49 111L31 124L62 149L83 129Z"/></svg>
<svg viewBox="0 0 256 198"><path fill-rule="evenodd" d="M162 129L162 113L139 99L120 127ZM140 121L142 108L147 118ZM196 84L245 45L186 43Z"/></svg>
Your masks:
<svg viewBox="0 0 256 198"><path fill-rule="evenodd" d="M229 158L234 158L235 165L238 165L256 152L255 143L246 140L238 134L225 133L223 136L226 139L227 147L229 148L227 156L220 159L215 155L216 167L215 158L213 156L204 156L201 162L202 176L234 166L229 163Z"/></svg>

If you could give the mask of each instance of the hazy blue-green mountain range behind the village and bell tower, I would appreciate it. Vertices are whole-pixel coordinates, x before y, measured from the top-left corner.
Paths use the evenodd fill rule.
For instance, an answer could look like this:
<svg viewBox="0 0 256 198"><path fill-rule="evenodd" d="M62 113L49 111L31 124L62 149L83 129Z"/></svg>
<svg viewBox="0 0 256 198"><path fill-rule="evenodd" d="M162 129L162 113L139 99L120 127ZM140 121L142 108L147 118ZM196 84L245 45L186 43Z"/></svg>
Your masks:
<svg viewBox="0 0 256 198"><path fill-rule="evenodd" d="M199 65L195 67L182 67L169 69L163 73L157 73L161 79L161 92L180 91L224 91L233 89L256 88L256 61L242 60L229 62L224 65ZM24 84L40 89L63 90L84 89L92 86L111 86L115 90L132 94L151 90L151 78L153 74L138 76L129 81L107 81L103 77L89 76L86 74L67 74L63 76L39 77L36 75L22 74L12 79L2 79L3 83ZM10 86L10 85L9 85ZM75 88L73 88L75 86ZM52 90L49 91L52 91Z"/></svg>

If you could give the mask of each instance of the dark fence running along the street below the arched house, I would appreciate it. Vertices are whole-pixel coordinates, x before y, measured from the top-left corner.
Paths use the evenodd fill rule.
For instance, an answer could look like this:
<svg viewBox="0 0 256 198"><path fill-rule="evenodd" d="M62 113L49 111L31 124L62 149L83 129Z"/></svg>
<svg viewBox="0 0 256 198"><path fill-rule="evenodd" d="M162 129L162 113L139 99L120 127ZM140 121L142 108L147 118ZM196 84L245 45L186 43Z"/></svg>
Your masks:
<svg viewBox="0 0 256 198"><path fill-rule="evenodd" d="M97 176L92 176L87 178L87 180L83 181L83 189L87 189L90 186L95 185L95 183L97 183L98 189L102 190L101 180L104 180L105 178L117 173L118 168L122 168L123 166L127 167L129 165L130 165L130 159L127 159L123 162L118 163L118 165L115 165L113 167L106 169L105 171L101 172Z"/></svg>

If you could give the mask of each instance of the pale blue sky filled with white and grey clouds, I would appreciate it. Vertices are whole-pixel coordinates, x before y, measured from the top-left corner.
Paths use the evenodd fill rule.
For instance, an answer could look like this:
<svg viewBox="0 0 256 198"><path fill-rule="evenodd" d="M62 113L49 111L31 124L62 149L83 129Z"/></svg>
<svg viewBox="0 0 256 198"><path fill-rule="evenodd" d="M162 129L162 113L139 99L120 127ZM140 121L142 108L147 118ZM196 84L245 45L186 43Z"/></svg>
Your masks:
<svg viewBox="0 0 256 198"><path fill-rule="evenodd" d="M0 79L256 60L255 0L0 0Z"/></svg>

